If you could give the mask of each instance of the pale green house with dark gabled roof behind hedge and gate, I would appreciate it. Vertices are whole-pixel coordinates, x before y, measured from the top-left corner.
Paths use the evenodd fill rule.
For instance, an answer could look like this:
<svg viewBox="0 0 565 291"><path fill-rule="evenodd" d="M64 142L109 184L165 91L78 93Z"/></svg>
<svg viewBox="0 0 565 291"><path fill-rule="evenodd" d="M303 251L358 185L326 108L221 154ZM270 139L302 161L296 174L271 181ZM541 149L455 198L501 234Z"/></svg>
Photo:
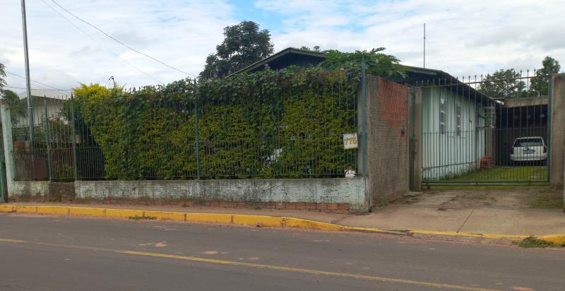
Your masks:
<svg viewBox="0 0 565 291"><path fill-rule="evenodd" d="M323 52L289 47L233 74L260 71L266 64L271 69L305 68L324 59ZM405 78L391 81L422 88L422 179L446 179L479 169L484 155L493 152L487 131L492 131L497 103L444 71L405 68Z"/></svg>

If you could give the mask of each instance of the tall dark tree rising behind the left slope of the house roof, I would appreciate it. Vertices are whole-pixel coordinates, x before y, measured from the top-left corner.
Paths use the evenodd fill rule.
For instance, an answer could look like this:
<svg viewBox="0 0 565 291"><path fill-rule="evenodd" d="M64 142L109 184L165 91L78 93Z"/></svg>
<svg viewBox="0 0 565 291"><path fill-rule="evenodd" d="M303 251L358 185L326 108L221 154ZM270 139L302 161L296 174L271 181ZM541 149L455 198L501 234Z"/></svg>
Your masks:
<svg viewBox="0 0 565 291"><path fill-rule="evenodd" d="M224 41L216 46L216 53L206 58L206 66L199 76L201 80L227 76L273 54L269 31L259 30L259 25L253 21L227 26L224 36Z"/></svg>

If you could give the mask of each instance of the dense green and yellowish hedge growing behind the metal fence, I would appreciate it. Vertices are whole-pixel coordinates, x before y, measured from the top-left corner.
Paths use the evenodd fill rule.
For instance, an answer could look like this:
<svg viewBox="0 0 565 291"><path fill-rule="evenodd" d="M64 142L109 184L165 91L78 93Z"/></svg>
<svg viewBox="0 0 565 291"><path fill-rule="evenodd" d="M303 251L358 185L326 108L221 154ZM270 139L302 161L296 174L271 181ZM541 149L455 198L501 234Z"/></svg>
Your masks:
<svg viewBox="0 0 565 291"><path fill-rule="evenodd" d="M196 107L203 179L343 177L357 167L342 134L357 131L358 85L345 71L290 68L135 93L74 92L107 179L193 179Z"/></svg>

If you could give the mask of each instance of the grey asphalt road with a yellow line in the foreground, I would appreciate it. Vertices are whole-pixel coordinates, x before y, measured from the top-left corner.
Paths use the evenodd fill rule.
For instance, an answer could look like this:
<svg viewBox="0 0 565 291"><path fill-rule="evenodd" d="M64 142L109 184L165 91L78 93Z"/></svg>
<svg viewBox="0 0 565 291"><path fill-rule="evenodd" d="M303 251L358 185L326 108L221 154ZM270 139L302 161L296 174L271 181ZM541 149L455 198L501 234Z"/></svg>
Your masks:
<svg viewBox="0 0 565 291"><path fill-rule="evenodd" d="M0 214L1 290L565 290L565 249Z"/></svg>

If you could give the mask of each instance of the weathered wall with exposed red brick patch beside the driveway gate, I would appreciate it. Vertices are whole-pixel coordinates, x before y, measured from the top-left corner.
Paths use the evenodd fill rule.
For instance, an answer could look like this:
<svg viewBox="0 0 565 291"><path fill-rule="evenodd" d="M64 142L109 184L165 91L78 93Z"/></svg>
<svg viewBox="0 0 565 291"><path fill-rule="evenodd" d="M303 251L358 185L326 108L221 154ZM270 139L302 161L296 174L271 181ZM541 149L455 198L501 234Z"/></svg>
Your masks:
<svg viewBox="0 0 565 291"><path fill-rule="evenodd" d="M367 191L373 205L409 189L408 87L367 78Z"/></svg>

